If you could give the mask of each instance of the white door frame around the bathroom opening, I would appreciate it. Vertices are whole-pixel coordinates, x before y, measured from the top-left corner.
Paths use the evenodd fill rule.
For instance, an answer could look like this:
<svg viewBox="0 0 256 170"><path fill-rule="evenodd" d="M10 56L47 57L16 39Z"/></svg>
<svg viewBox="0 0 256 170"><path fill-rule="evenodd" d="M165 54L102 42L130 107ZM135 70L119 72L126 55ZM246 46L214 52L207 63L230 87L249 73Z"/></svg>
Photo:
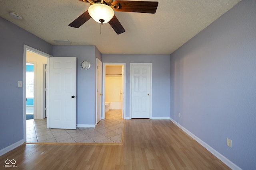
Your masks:
<svg viewBox="0 0 256 170"><path fill-rule="evenodd" d="M123 104L122 104L122 116L124 119L128 119L127 117L125 117L125 108L126 108L126 100L125 100L125 96L126 96L126 63L103 63L103 67L102 67L102 119L105 119L106 116L105 116L105 83L106 83L106 80L105 80L105 77L106 77L106 65L122 65L124 66L124 80L123 80L123 84L124 84L124 90L123 90Z"/></svg>

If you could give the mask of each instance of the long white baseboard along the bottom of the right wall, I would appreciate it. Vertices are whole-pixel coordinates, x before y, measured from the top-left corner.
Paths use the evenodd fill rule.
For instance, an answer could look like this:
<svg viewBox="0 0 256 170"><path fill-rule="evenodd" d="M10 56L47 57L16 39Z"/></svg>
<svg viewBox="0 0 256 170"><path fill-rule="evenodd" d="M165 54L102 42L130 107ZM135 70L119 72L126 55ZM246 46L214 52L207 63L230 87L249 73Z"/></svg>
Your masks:
<svg viewBox="0 0 256 170"><path fill-rule="evenodd" d="M200 145L202 145L205 149L207 149L209 152L211 152L214 156L216 156L219 160L221 160L224 164L226 164L229 168L232 170L242 170L240 167L238 167L236 164L231 162L228 158L220 154L217 150L210 147L207 143L202 141L200 138L198 138L196 135L188 131L186 128L184 128L182 125L180 125L178 122L176 122L174 119L170 118L170 121L172 121L175 125L177 125L182 131L184 131L186 134L188 134L190 137L192 137L195 141L197 141Z"/></svg>

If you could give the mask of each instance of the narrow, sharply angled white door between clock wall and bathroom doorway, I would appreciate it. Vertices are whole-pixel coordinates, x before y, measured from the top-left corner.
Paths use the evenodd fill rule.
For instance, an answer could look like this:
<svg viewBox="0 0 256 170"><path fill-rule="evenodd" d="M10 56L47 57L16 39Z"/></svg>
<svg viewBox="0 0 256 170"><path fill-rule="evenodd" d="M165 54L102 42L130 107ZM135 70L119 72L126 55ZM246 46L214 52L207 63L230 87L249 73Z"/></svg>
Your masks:
<svg viewBox="0 0 256 170"><path fill-rule="evenodd" d="M97 103L96 103L96 122L98 123L101 120L101 107L102 107L102 85L101 85L101 80L102 80L102 62L97 59Z"/></svg>

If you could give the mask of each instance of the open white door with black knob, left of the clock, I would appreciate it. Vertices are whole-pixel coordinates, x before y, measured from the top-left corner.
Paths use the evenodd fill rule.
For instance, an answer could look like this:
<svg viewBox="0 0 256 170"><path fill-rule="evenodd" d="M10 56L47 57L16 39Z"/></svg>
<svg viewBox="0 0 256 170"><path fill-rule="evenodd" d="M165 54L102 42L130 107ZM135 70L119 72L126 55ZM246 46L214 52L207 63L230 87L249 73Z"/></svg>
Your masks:
<svg viewBox="0 0 256 170"><path fill-rule="evenodd" d="M50 128L76 129L76 57L50 58Z"/></svg>

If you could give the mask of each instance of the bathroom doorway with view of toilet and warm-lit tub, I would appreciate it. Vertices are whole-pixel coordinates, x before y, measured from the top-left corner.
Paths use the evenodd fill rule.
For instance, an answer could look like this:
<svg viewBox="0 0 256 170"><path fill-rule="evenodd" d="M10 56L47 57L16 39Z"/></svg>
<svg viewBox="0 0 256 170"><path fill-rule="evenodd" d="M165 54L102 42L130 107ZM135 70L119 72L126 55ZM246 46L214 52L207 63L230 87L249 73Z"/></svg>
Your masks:
<svg viewBox="0 0 256 170"><path fill-rule="evenodd" d="M109 109L121 109L125 119L125 63L103 63L102 119Z"/></svg>

